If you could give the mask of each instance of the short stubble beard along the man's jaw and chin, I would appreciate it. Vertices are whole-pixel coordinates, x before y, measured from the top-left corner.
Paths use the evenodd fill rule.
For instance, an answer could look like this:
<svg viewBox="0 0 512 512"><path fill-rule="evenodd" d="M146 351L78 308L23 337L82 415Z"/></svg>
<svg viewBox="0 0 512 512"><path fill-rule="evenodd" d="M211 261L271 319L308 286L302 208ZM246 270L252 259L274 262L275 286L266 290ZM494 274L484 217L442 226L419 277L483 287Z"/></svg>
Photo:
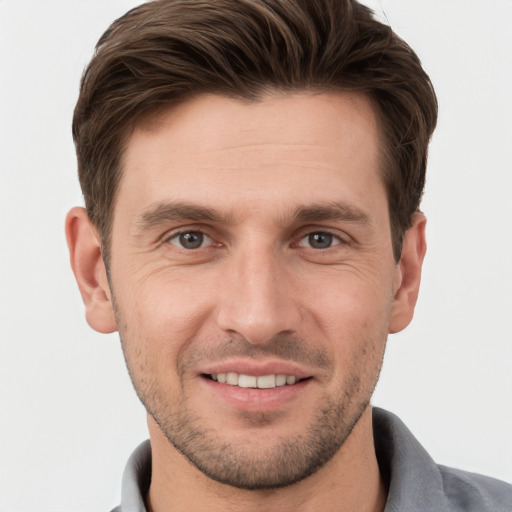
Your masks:
<svg viewBox="0 0 512 512"><path fill-rule="evenodd" d="M168 403L154 378L147 373L145 378L140 378L140 370L148 368L147 362L131 361L123 340L122 345L137 395L172 446L209 478L245 490L272 490L292 485L331 460L369 405L383 356L382 352L380 364L368 375L368 359L372 360L368 357L369 351L375 352L378 345L363 342L361 360L354 365L362 372L352 371L351 378L336 396L325 397L323 403L316 405L317 413L303 433L274 440L270 445L258 443L253 437L248 446L240 446L206 426L205 419L188 408L185 393L179 404ZM248 419L252 426L258 424L261 428L273 421L272 415L264 413L248 415Z"/></svg>

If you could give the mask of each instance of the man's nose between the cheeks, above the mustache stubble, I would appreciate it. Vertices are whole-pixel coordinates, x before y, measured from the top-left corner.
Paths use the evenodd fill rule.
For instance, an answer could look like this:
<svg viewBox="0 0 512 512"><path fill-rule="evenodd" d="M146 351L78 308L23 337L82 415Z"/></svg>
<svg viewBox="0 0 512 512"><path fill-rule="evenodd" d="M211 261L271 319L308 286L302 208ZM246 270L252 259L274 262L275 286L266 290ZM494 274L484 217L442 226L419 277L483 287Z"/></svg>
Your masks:
<svg viewBox="0 0 512 512"><path fill-rule="evenodd" d="M291 267L272 247L247 248L230 258L220 284L218 326L252 344L295 333L301 311Z"/></svg>

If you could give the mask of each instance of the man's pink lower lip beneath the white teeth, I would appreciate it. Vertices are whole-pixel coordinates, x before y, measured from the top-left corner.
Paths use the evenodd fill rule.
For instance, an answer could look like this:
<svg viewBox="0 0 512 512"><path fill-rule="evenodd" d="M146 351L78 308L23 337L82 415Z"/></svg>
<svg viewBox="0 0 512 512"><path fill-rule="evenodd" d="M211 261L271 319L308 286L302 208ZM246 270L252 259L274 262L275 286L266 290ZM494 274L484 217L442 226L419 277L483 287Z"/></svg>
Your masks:
<svg viewBox="0 0 512 512"><path fill-rule="evenodd" d="M312 379L270 389L241 388L206 377L201 377L201 381L210 393L237 409L248 412L272 412L297 399L311 385Z"/></svg>

